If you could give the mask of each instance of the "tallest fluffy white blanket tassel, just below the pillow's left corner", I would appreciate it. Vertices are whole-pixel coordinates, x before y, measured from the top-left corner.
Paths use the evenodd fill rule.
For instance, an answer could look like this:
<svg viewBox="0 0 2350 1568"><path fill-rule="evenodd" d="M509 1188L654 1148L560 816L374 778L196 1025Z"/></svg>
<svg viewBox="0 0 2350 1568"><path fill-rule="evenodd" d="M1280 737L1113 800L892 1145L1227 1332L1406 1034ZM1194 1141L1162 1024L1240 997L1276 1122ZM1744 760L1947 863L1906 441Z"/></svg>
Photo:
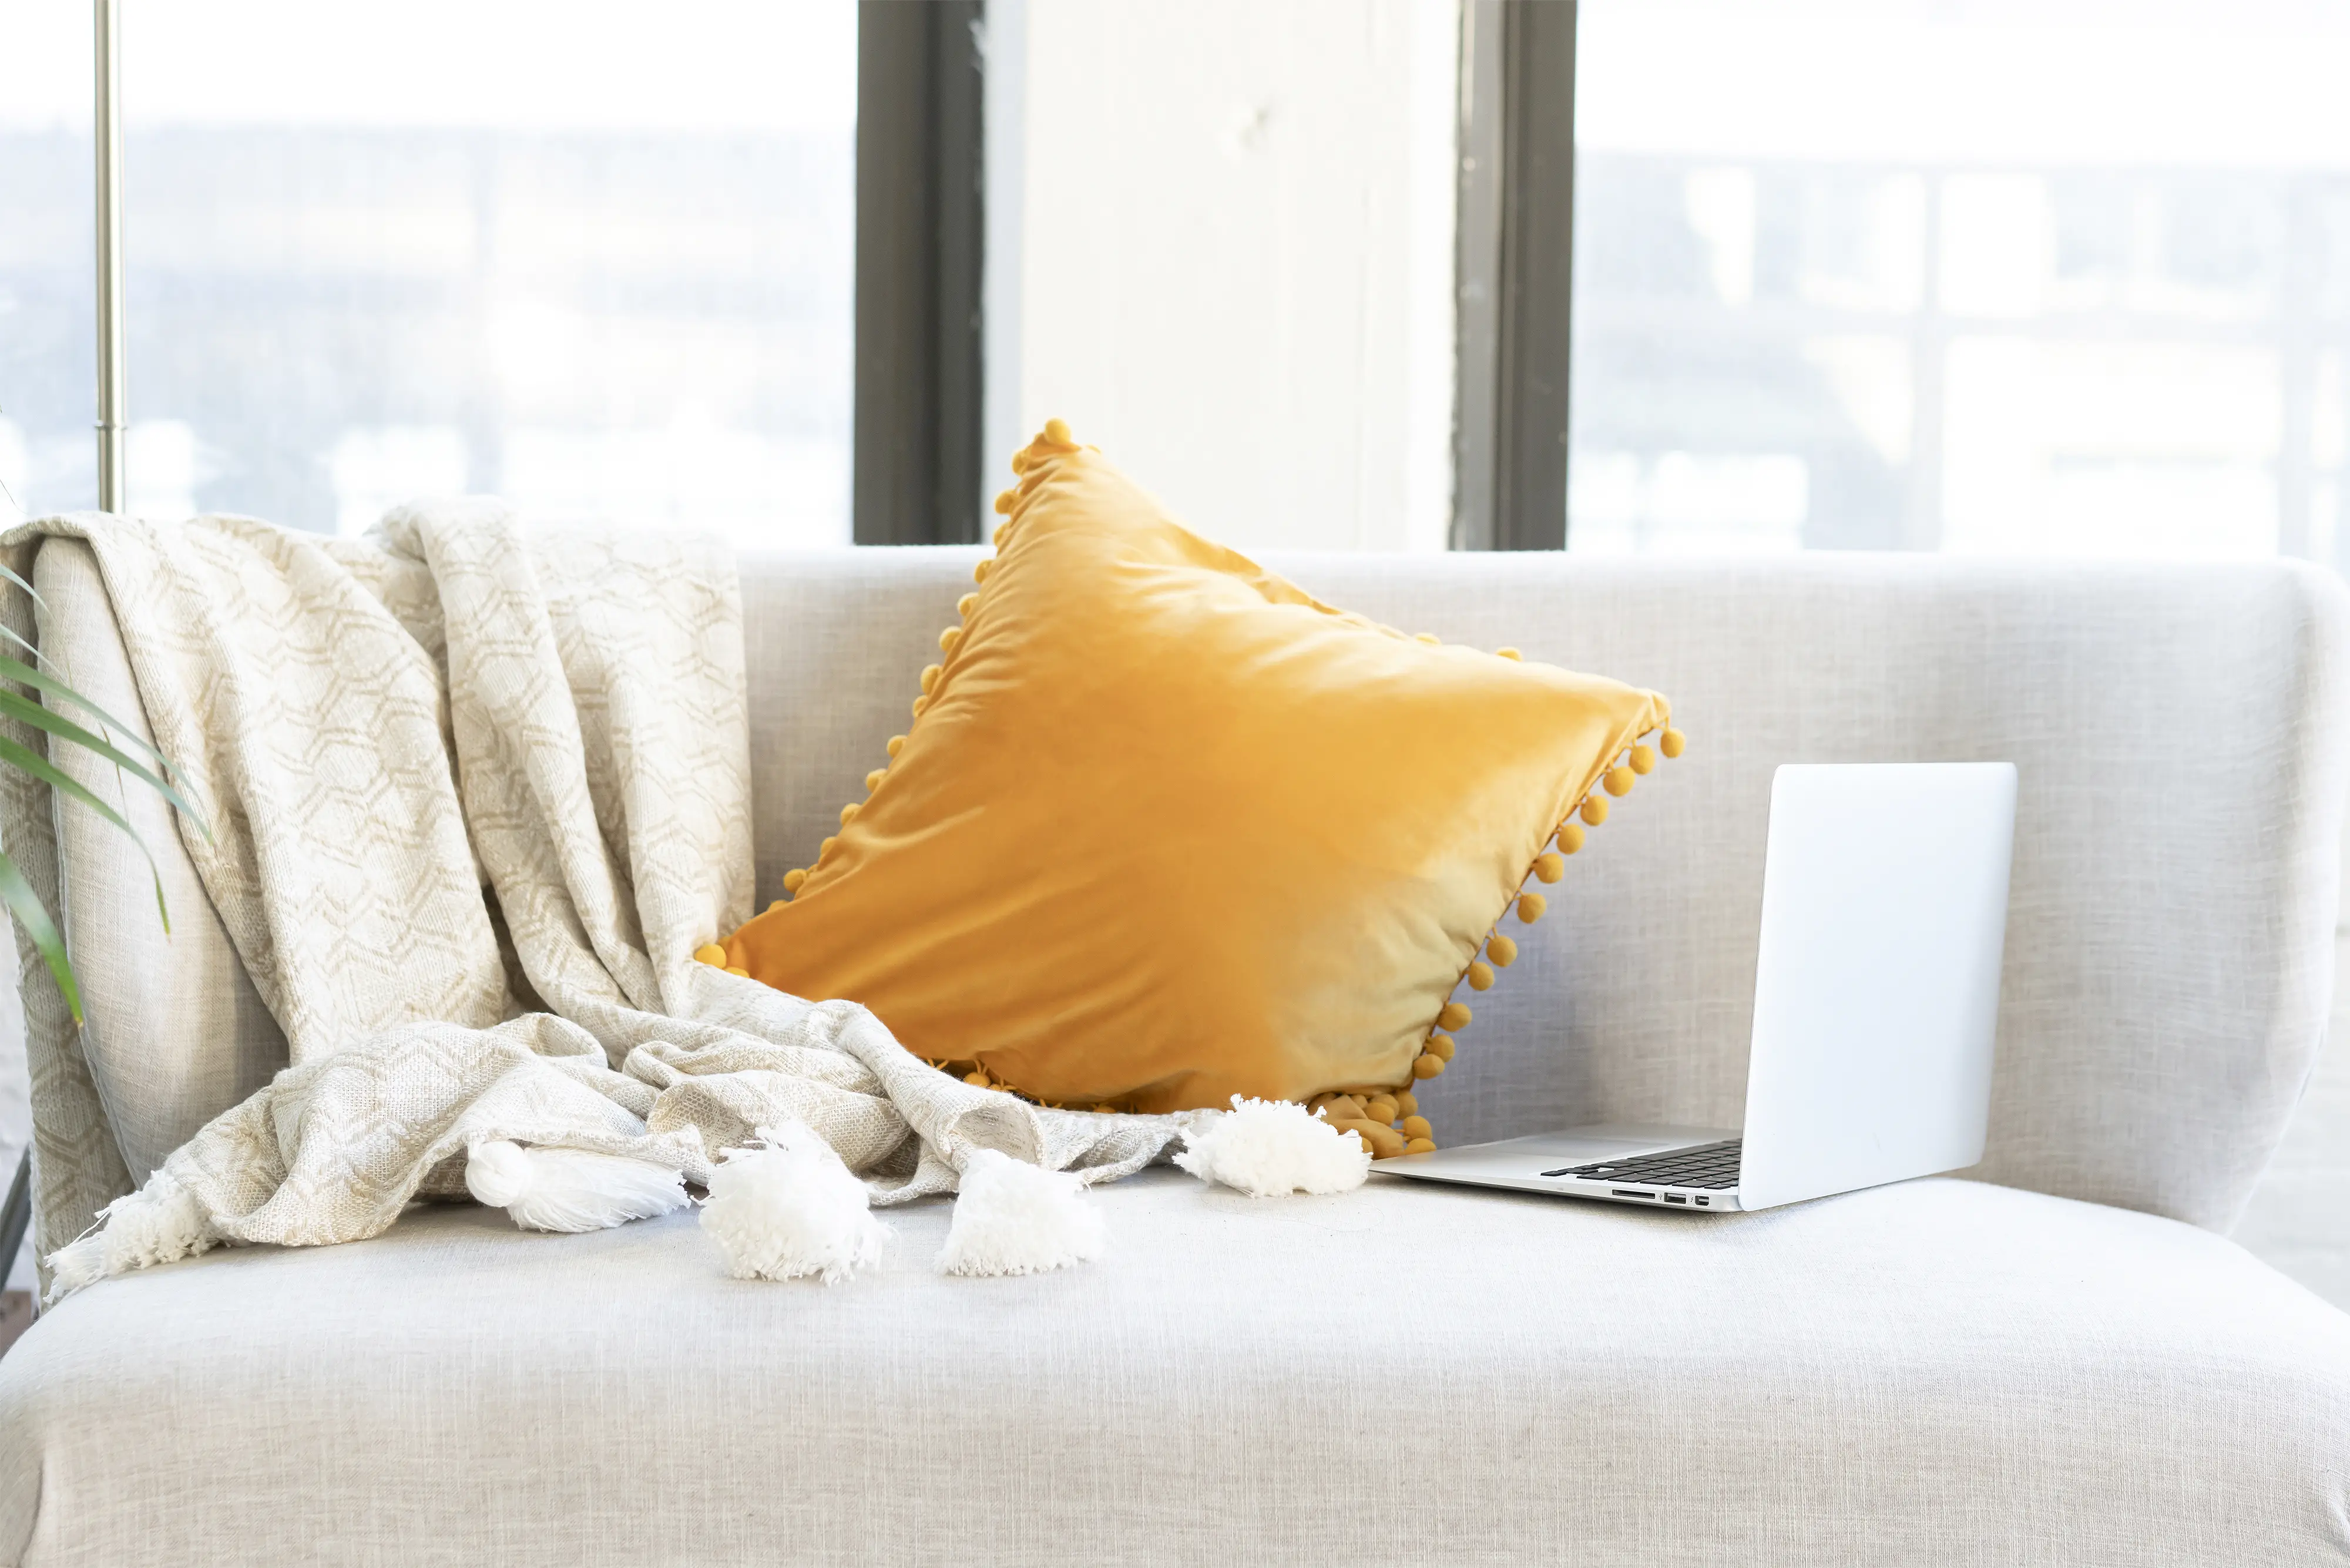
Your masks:
<svg viewBox="0 0 2350 1568"><path fill-rule="evenodd" d="M761 1126L750 1147L719 1154L703 1229L736 1279L815 1274L830 1286L879 1262L888 1246L865 1182L804 1121Z"/></svg>

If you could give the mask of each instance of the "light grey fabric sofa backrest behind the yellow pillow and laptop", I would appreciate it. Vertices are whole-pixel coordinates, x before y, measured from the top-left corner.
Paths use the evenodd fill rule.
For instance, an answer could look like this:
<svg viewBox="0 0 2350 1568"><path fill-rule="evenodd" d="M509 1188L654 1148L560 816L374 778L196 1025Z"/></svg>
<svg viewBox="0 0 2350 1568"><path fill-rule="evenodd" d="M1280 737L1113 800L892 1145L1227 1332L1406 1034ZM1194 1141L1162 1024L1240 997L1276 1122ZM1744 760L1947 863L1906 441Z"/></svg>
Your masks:
<svg viewBox="0 0 2350 1568"><path fill-rule="evenodd" d="M743 562L761 900L862 797L978 557ZM2005 759L2016 858L1976 1173L2235 1220L2331 999L2350 795L2336 578L1892 555L1267 564L1410 632L1654 686L1690 736L1567 863L1424 1088L1441 1143L1737 1126L1772 769Z"/></svg>

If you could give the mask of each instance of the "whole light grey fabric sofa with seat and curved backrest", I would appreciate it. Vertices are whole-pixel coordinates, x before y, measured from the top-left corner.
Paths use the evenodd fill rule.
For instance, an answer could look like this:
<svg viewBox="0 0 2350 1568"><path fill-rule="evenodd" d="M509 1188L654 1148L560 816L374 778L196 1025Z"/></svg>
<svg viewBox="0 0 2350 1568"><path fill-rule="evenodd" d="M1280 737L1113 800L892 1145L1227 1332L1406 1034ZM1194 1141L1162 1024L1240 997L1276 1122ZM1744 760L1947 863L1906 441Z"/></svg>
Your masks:
<svg viewBox="0 0 2350 1568"><path fill-rule="evenodd" d="M743 559L761 900L900 722L973 559ZM421 1206L371 1241L216 1251L42 1314L0 1359L0 1561L2350 1554L2350 1316L2225 1239L2334 987L2331 576L1269 564L1408 630L1657 686L1690 733L1424 1086L1441 1143L1734 1126L1772 769L2007 759L1983 1161L1751 1215L1377 1173L1248 1199L1154 1168L1095 1190L1097 1262L947 1279L947 1208L916 1204L877 1211L888 1260L830 1288L726 1276L691 1213L550 1237ZM82 689L136 705L87 550L42 550L38 585ZM75 1135L139 1180L284 1041L164 818L169 940L146 872L75 816L87 1048L146 1086Z"/></svg>

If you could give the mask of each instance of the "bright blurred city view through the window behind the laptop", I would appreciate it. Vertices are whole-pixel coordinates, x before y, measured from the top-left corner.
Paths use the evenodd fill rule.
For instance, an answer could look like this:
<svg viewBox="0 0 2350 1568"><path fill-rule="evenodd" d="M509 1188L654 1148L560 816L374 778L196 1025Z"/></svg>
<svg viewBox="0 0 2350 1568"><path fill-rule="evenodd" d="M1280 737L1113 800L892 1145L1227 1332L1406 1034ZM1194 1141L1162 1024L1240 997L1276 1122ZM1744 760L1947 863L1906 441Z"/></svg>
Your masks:
<svg viewBox="0 0 2350 1568"><path fill-rule="evenodd" d="M1584 0L1567 548L2343 562L2345 59L2294 0Z"/></svg>

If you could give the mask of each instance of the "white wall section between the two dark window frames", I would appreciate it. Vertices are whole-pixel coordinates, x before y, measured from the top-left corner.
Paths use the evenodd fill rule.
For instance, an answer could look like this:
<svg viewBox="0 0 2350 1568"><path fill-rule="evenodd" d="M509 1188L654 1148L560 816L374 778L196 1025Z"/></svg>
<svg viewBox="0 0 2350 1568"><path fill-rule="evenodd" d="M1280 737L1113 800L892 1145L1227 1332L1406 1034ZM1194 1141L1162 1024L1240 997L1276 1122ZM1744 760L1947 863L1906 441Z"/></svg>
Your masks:
<svg viewBox="0 0 2350 1568"><path fill-rule="evenodd" d="M992 447L1058 414L1224 543L1443 548L1457 0L989 9Z"/></svg>

